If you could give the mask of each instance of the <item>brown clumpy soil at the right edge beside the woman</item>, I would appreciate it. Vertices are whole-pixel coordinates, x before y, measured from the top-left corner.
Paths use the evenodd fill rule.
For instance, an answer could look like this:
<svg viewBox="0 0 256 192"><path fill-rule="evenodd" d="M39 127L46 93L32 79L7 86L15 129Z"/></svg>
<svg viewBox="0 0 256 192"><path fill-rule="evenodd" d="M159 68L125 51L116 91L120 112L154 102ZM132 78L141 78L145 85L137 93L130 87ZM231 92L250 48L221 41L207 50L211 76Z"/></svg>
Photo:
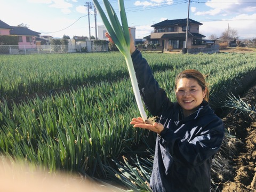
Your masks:
<svg viewBox="0 0 256 192"><path fill-rule="evenodd" d="M242 99L255 107L256 84ZM256 191L256 115L235 112L232 110L223 118L226 129L235 138L226 138L222 143L222 166L215 174L219 188L216 191Z"/></svg>

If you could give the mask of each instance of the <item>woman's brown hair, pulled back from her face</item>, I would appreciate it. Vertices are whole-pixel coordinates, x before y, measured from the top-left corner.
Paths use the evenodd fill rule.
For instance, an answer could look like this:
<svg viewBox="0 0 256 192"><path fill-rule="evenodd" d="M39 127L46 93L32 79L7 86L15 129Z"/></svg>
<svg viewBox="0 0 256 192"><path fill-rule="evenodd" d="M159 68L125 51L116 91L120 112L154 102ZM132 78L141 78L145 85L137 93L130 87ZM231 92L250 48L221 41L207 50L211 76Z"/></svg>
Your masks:
<svg viewBox="0 0 256 192"><path fill-rule="evenodd" d="M177 83L182 78L193 78L197 81L197 83L202 87L202 90L204 91L206 86L205 78L202 73L200 73L198 70L195 69L187 69L182 71L175 79L175 90L177 89ZM205 97L205 101L209 100L209 89L207 89Z"/></svg>

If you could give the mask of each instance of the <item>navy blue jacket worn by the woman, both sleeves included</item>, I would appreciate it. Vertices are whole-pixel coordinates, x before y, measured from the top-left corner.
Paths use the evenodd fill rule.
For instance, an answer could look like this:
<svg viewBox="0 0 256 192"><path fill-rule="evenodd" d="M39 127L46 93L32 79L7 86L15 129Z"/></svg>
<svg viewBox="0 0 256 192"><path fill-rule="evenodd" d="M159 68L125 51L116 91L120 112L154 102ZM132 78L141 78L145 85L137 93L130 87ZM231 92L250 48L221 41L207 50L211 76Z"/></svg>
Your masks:
<svg viewBox="0 0 256 192"><path fill-rule="evenodd" d="M210 191L211 162L224 137L221 119L209 103L182 118L181 107L171 102L136 50L132 54L140 94L149 112L164 125L157 134L150 187L153 191Z"/></svg>

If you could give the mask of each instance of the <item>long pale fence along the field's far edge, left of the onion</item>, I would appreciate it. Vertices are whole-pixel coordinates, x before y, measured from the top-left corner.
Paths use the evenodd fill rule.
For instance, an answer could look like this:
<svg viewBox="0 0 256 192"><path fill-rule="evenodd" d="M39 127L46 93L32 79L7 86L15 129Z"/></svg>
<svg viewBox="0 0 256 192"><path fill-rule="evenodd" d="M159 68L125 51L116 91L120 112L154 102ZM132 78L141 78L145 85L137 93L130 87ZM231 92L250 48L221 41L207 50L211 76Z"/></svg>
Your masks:
<svg viewBox="0 0 256 192"><path fill-rule="evenodd" d="M38 53L75 53L108 51L108 45L90 45L90 47L69 45L37 45L36 48L24 45L0 45L0 54L38 54Z"/></svg>

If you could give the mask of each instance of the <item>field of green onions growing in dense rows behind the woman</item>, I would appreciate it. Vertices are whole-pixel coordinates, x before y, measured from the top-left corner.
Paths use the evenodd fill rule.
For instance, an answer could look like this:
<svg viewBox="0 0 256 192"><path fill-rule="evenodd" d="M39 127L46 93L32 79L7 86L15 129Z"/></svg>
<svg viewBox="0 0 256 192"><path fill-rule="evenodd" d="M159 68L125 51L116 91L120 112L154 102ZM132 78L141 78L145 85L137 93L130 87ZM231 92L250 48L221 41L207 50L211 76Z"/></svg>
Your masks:
<svg viewBox="0 0 256 192"><path fill-rule="evenodd" d="M213 108L256 80L256 54L142 54L172 101L185 69L207 75ZM113 178L106 167L148 135L130 125L139 111L119 52L0 55L0 96L0 153L51 173Z"/></svg>

